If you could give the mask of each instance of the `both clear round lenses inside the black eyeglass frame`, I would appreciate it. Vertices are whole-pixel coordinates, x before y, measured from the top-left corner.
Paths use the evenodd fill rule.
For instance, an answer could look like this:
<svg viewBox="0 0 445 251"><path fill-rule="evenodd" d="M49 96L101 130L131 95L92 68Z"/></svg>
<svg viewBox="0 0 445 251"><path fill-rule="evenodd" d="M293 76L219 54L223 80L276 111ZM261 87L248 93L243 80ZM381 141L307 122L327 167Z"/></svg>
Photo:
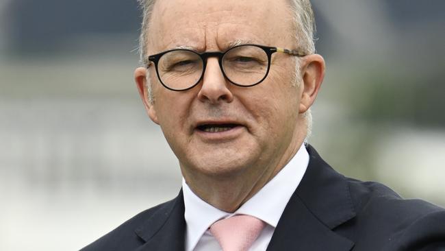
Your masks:
<svg viewBox="0 0 445 251"><path fill-rule="evenodd" d="M165 53L157 63L162 83L175 90L183 90L196 84L204 71L204 63L198 53L175 50ZM241 86L251 86L261 81L268 70L268 55L264 49L253 45L233 47L222 59L226 77Z"/></svg>

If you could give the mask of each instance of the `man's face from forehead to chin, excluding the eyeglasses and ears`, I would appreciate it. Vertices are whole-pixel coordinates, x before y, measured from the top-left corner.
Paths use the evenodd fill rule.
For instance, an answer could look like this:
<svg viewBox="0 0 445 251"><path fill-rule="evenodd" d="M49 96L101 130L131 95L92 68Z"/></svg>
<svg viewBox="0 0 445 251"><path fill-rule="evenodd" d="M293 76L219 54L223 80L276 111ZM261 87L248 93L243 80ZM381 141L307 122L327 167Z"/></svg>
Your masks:
<svg viewBox="0 0 445 251"><path fill-rule="evenodd" d="M149 32L149 54L176 47L225 51L238 40L297 49L285 0L158 0ZM273 54L266 80L247 88L225 80L217 58L208 59L203 80L188 91L164 88L153 66L149 71L155 98L149 115L186 180L196 174L262 174L303 141L298 108L304 87L292 83L292 56Z"/></svg>

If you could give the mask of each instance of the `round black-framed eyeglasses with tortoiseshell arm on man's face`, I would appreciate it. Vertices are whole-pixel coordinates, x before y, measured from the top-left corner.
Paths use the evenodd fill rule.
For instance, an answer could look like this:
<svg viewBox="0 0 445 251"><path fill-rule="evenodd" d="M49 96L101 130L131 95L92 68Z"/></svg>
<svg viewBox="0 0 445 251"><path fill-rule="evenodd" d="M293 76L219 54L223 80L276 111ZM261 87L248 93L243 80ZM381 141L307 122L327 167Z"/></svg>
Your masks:
<svg viewBox="0 0 445 251"><path fill-rule="evenodd" d="M238 45L223 52L198 53L190 49L171 49L149 56L149 60L155 64L161 84L172 91L186 91L196 86L204 76L207 58L211 57L218 58L220 69L229 82L248 87L266 79L270 58L277 51L298 57L307 55L279 47Z"/></svg>

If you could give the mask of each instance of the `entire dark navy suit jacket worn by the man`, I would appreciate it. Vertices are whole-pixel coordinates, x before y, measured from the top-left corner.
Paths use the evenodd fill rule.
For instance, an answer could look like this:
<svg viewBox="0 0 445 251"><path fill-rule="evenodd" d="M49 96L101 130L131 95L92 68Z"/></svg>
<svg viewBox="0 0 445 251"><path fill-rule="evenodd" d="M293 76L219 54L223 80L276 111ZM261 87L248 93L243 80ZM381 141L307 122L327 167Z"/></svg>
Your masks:
<svg viewBox="0 0 445 251"><path fill-rule="evenodd" d="M311 146L303 180L290 198L268 251L445 250L445 210L403 200L376 182L334 171ZM285 184L283 184L284 186ZM91 243L83 251L185 250L182 191Z"/></svg>

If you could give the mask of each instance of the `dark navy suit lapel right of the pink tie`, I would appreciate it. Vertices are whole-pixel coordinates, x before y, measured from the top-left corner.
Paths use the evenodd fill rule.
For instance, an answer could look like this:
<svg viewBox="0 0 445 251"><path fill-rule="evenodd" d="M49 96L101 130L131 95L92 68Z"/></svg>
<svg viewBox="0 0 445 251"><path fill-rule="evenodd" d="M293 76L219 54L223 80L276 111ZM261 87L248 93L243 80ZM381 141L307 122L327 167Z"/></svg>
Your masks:
<svg viewBox="0 0 445 251"><path fill-rule="evenodd" d="M290 198L270 240L274 250L338 250L353 248L353 241L333 229L355 217L344 176L335 172L312 147L305 176Z"/></svg>

